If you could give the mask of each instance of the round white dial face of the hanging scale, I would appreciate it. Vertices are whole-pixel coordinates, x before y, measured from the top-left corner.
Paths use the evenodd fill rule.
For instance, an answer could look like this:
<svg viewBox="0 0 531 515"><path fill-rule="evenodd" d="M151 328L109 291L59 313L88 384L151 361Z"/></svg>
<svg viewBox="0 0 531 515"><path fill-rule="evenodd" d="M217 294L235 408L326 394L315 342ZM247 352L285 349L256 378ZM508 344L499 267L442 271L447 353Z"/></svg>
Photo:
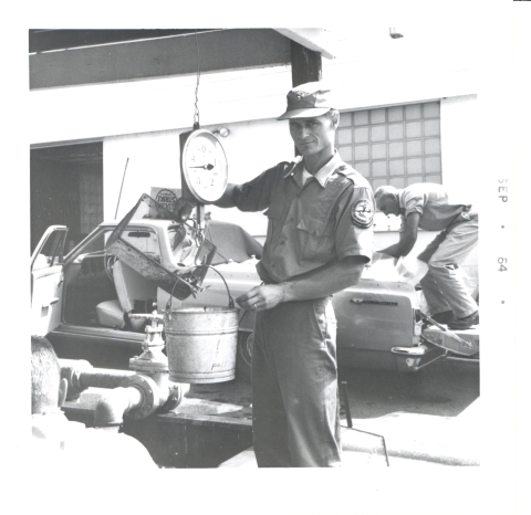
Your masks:
<svg viewBox="0 0 531 515"><path fill-rule="evenodd" d="M227 189L228 166L218 138L209 130L194 130L181 156L183 177L190 193L200 203L219 200Z"/></svg>

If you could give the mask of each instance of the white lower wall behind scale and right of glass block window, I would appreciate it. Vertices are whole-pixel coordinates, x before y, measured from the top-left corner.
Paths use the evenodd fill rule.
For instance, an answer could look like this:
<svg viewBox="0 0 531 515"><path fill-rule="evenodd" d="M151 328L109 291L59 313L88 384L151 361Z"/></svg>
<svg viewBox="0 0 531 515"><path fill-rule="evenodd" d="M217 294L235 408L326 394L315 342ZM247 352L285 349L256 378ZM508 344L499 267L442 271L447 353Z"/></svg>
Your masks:
<svg viewBox="0 0 531 515"><path fill-rule="evenodd" d="M476 201L475 188L479 180L475 134L477 132L476 95L466 95L441 101L441 150L442 183L455 192L466 191L470 200ZM216 126L204 126L212 129ZM240 183L252 179L261 171L281 160L290 160L294 148L289 136L287 122L261 119L222 124L230 134L220 140L229 162L229 181ZM113 219L129 158L119 200L118 218L152 187L180 188L179 167L180 130L116 136L104 139L104 218ZM208 207L218 220L238 222L251 234L266 234L267 219L261 213L241 216L236 209ZM399 221L391 217L385 219L378 213L378 231L396 231Z"/></svg>

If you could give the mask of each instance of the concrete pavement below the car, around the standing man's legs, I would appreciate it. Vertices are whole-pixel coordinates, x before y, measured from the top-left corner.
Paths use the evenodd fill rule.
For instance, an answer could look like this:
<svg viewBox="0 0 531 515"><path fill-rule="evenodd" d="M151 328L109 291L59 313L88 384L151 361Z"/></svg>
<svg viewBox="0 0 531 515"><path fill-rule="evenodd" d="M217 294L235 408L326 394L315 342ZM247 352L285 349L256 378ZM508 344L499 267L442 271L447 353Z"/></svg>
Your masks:
<svg viewBox="0 0 531 515"><path fill-rule="evenodd" d="M479 365L441 361L415 376L346 370L353 428L385 438L389 466L480 464ZM382 439L348 429L343 466L386 466ZM256 467L252 448L223 467Z"/></svg>

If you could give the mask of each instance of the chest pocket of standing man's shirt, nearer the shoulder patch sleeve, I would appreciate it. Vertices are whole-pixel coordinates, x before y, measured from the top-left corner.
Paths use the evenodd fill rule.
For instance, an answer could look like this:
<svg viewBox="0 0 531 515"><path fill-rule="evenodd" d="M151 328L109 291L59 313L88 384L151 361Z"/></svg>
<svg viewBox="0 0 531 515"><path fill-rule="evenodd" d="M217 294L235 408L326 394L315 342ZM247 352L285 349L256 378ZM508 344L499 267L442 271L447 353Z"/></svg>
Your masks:
<svg viewBox="0 0 531 515"><path fill-rule="evenodd" d="M313 218L302 218L296 224L296 240L305 261L326 263L334 256L332 224Z"/></svg>

